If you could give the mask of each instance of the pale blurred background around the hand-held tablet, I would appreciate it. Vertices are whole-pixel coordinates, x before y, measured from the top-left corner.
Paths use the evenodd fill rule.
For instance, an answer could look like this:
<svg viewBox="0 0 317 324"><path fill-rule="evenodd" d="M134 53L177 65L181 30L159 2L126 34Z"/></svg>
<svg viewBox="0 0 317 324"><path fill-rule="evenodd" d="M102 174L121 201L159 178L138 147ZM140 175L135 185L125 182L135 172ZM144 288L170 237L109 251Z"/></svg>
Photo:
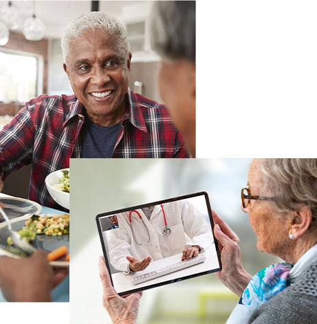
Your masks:
<svg viewBox="0 0 317 324"><path fill-rule="evenodd" d="M256 249L241 188L250 159L72 159L71 323L110 323L102 307L98 257L102 255L96 215L188 193L207 191L212 209L240 238L245 270L255 274L277 258ZM166 217L168 217L166 215ZM139 324L225 323L238 296L207 274L146 290Z"/></svg>

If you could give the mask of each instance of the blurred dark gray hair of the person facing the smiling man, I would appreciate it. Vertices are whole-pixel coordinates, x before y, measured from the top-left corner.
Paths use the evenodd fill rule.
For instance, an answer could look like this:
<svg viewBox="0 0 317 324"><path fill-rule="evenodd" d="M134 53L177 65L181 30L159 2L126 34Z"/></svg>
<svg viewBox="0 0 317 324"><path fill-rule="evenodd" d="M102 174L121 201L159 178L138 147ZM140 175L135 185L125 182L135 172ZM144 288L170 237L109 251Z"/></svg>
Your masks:
<svg viewBox="0 0 317 324"><path fill-rule="evenodd" d="M195 1L156 1L151 17L151 45L164 59L196 58Z"/></svg>

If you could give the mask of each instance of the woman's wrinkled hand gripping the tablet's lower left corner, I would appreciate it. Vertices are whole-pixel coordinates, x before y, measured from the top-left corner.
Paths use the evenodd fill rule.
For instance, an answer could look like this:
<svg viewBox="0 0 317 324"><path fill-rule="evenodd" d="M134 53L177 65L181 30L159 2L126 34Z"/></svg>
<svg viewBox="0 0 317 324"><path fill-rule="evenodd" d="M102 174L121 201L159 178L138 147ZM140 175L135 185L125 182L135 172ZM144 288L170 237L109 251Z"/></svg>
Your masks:
<svg viewBox="0 0 317 324"><path fill-rule="evenodd" d="M122 298L111 285L103 257L99 257L99 274L103 286L102 305L109 313L113 324L134 324L138 317L142 292Z"/></svg>

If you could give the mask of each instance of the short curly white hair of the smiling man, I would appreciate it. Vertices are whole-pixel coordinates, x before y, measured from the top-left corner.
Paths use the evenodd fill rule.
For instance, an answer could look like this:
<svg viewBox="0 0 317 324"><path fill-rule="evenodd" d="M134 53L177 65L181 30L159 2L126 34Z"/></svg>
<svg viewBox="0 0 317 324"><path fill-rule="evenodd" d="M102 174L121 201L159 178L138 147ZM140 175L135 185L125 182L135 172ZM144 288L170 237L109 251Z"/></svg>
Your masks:
<svg viewBox="0 0 317 324"><path fill-rule="evenodd" d="M127 40L127 30L124 25L105 12L88 12L81 14L71 21L65 28L62 36L62 50L64 62L66 63L67 56L74 43L76 37L80 36L87 30L105 30L109 34L116 36L118 39L118 49L124 50L126 54L129 52L129 42Z"/></svg>

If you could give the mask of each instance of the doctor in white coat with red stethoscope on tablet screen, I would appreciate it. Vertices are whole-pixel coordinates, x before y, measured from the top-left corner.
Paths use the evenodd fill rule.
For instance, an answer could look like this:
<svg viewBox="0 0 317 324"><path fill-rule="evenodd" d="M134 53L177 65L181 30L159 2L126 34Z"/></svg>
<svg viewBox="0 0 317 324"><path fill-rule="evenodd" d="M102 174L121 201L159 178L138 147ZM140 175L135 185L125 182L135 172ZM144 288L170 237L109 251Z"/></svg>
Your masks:
<svg viewBox="0 0 317 324"><path fill-rule="evenodd" d="M151 260L183 253L197 257L213 241L204 216L186 200L117 214L119 228L109 232L109 257L114 268L142 271Z"/></svg>

